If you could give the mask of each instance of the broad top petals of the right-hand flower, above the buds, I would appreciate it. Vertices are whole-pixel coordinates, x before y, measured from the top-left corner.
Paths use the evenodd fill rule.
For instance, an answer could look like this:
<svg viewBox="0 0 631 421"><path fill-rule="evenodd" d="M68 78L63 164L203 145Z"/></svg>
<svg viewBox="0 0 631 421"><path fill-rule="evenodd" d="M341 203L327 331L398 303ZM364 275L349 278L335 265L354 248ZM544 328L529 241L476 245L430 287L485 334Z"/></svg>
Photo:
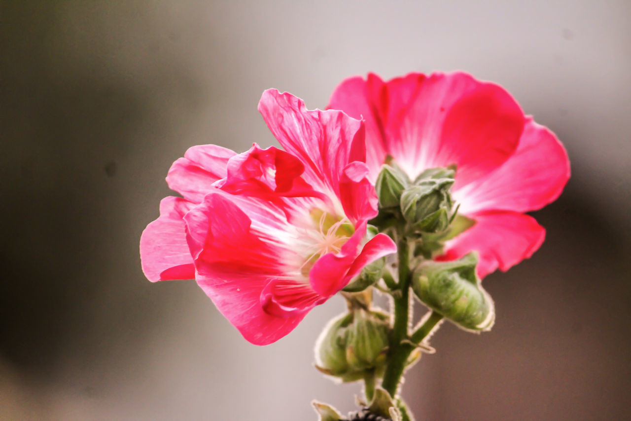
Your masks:
<svg viewBox="0 0 631 421"><path fill-rule="evenodd" d="M378 85L375 75L364 85L357 78L343 82L329 107L353 117L370 110L362 115L371 128L368 149L377 151L373 159L384 150L411 177L456 164L456 183L468 183L500 166L517 147L524 116L498 85L462 72L411 73ZM382 163L369 161L373 180Z"/></svg>

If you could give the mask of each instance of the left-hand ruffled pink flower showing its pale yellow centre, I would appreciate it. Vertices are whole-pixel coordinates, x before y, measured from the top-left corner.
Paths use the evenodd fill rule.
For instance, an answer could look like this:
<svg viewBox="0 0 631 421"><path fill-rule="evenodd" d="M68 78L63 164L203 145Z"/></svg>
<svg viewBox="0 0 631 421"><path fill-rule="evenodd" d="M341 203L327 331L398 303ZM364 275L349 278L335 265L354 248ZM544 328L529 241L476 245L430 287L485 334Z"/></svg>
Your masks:
<svg viewBox="0 0 631 421"><path fill-rule="evenodd" d="M195 278L245 339L266 345L396 246L367 235L377 197L361 121L276 90L259 111L285 150L187 150L167 176L184 197L162 200L140 252L150 281Z"/></svg>

